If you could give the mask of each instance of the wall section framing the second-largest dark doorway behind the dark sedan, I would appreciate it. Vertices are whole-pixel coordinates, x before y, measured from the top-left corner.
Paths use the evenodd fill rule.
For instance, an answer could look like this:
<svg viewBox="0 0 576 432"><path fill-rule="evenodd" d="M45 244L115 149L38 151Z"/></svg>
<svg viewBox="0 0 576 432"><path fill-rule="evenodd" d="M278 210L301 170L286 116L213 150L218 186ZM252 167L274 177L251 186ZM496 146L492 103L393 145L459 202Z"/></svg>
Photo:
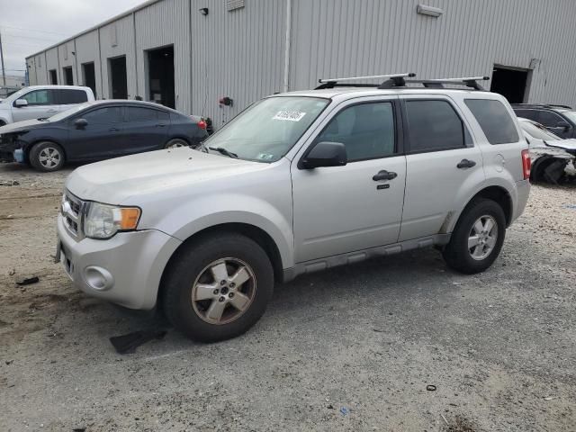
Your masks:
<svg viewBox="0 0 576 432"><path fill-rule="evenodd" d="M134 49L134 18L125 16L100 28L100 58L102 73L102 94L104 99L112 98L110 88L109 58L126 56L128 97L133 99L136 91L136 52Z"/></svg>

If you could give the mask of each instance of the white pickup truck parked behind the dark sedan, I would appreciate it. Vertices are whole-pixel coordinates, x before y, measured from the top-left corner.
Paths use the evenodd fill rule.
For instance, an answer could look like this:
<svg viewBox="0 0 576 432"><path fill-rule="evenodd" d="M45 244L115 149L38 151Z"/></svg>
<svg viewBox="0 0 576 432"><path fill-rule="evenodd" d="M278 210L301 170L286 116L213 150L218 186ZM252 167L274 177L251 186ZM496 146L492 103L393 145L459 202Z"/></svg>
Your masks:
<svg viewBox="0 0 576 432"><path fill-rule="evenodd" d="M31 85L0 102L0 126L16 121L48 118L88 101L94 101L94 93L89 87Z"/></svg>

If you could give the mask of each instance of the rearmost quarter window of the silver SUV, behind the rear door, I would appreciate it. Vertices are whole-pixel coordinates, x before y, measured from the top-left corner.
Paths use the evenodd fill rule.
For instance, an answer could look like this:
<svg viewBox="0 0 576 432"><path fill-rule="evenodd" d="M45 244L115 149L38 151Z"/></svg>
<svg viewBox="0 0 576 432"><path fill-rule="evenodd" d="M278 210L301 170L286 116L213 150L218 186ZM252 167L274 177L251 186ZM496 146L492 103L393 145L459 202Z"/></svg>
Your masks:
<svg viewBox="0 0 576 432"><path fill-rule="evenodd" d="M518 130L506 107L493 99L466 99L474 117L491 144L518 142Z"/></svg>

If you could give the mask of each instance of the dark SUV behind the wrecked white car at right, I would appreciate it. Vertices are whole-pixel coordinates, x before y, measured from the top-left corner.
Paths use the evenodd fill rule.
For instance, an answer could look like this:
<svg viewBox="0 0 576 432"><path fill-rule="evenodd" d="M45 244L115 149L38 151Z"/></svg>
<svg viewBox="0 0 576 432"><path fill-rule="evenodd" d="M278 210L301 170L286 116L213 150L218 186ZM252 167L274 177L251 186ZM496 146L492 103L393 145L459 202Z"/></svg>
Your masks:
<svg viewBox="0 0 576 432"><path fill-rule="evenodd" d="M518 117L543 124L563 139L576 138L576 111L567 105L517 103L512 109Z"/></svg>

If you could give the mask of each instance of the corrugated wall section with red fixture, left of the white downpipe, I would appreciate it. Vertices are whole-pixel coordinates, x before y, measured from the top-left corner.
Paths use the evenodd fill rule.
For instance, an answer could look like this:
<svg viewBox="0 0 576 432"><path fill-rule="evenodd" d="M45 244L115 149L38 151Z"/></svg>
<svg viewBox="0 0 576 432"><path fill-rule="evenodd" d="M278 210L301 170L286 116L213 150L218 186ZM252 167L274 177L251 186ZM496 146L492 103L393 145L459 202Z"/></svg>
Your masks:
<svg viewBox="0 0 576 432"><path fill-rule="evenodd" d="M285 0L246 0L228 12L223 0L193 3L192 111L218 126L266 94L282 91ZM200 14L208 7L209 14ZM234 106L219 108L221 96Z"/></svg>

